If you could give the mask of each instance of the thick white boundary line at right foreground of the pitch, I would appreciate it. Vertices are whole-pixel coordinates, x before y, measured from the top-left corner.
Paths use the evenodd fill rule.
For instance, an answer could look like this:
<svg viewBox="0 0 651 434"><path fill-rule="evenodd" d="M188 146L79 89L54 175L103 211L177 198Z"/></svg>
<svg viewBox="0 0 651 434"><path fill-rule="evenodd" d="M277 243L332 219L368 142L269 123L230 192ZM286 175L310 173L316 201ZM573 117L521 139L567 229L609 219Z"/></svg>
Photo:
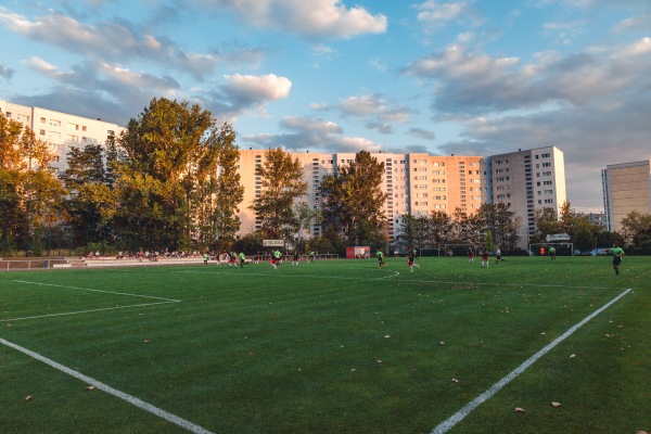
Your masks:
<svg viewBox="0 0 651 434"><path fill-rule="evenodd" d="M624 295L628 294L630 291L631 291L631 289L629 288L628 290L624 291L622 294L617 295L615 298L611 299L609 303L603 305L601 308L595 310L592 314L590 314L589 316L584 318L582 321L577 322L565 333L561 334L559 337L557 337L556 340L550 342L547 346L545 346L542 349L540 349L538 353L534 354L532 357L526 359L526 361L524 361L522 365L520 365L518 368L515 368L513 371L511 371L507 376L502 378L500 381L498 381L493 386L490 386L490 388L488 388L486 392L484 392L483 394L481 394L480 396L477 396L476 398L474 398L473 400L468 403L461 410L457 411L455 414L449 417L447 420L439 423L434 430L432 430L431 434L447 433L449 430L452 429L452 426L455 426L457 423L461 422L463 420L463 418L465 418L468 414L470 414L475 408L477 408L480 405L482 405L486 400L490 399L503 386L509 384L518 375L520 375L522 372L524 372L528 367L534 365L540 357L545 356L554 346L557 346L558 344L563 342L565 339L567 339L570 335L572 335L575 331L577 331L582 326L584 326L586 322L588 322L589 320L591 320L592 318L595 318L596 316L598 316L599 314L601 314L602 311L604 311L605 309L611 307L614 303L616 303Z"/></svg>

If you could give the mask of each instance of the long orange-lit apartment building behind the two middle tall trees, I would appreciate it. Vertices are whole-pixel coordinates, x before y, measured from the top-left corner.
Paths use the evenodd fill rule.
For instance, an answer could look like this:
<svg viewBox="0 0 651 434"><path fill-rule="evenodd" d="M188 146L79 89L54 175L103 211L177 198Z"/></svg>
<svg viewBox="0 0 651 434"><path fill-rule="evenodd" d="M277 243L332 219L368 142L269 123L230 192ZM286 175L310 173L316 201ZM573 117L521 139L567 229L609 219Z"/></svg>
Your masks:
<svg viewBox="0 0 651 434"><path fill-rule="evenodd" d="M242 221L239 237L260 228L250 206L261 193L261 179L256 167L265 162L266 150L241 150L239 173L244 187L244 199L239 217ZM312 209L321 206L319 186L323 177L333 175L355 161L355 153L290 152L303 167L308 191L303 201ZM425 153L396 154L371 153L384 163L382 192L387 195L383 209L386 230L391 239L399 234L401 217L429 216L432 210L454 213L460 208L472 213L483 203L482 156L433 156ZM318 237L321 228L314 226L309 235Z"/></svg>

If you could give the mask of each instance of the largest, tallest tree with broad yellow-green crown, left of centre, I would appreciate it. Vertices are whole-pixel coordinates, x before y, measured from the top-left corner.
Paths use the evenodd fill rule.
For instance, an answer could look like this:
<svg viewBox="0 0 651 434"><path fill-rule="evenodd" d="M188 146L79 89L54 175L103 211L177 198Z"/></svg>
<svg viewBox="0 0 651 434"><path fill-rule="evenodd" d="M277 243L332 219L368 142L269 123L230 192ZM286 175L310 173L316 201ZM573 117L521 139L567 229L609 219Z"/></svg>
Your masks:
<svg viewBox="0 0 651 434"><path fill-rule="evenodd" d="M140 246L179 248L196 248L220 232L217 222L231 233L239 225L231 212L241 201L233 142L231 127L218 127L210 112L199 105L152 100L117 139L120 233ZM227 178L221 187L215 180L219 162Z"/></svg>

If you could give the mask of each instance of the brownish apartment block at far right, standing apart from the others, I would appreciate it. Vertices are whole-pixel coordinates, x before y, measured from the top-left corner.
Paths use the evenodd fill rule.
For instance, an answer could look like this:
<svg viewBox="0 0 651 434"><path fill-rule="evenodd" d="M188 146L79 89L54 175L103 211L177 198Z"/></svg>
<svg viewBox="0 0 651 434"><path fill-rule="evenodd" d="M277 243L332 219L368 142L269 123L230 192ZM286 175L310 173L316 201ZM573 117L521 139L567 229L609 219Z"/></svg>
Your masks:
<svg viewBox="0 0 651 434"><path fill-rule="evenodd" d="M622 219L633 210L651 213L651 161L612 164L601 170L605 227L622 229Z"/></svg>

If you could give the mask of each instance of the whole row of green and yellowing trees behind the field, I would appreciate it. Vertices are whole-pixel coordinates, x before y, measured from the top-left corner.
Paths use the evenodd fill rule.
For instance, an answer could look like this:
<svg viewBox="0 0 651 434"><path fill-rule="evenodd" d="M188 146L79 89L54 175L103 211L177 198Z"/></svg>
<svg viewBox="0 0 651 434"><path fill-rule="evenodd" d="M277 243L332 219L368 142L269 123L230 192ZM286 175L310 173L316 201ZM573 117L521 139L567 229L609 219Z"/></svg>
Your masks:
<svg viewBox="0 0 651 434"><path fill-rule="evenodd" d="M361 151L318 192L305 200L308 184L297 158L282 149L265 153L256 167L261 190L242 204L239 148L229 124L187 102L154 99L125 131L103 144L69 148L67 168L55 174L55 155L34 131L0 114L0 244L3 256L116 251L260 251L264 239L282 239L296 248L343 253L348 245L388 248L382 191L384 163ZM255 213L260 229L238 240L241 206ZM545 208L537 232L566 232L583 248L595 240L649 243L650 218L634 214L623 235L604 232L565 204L560 216ZM454 242L514 250L521 221L505 204L484 204L473 214L401 216L403 233L391 248L432 248ZM311 239L312 226L322 229Z"/></svg>

